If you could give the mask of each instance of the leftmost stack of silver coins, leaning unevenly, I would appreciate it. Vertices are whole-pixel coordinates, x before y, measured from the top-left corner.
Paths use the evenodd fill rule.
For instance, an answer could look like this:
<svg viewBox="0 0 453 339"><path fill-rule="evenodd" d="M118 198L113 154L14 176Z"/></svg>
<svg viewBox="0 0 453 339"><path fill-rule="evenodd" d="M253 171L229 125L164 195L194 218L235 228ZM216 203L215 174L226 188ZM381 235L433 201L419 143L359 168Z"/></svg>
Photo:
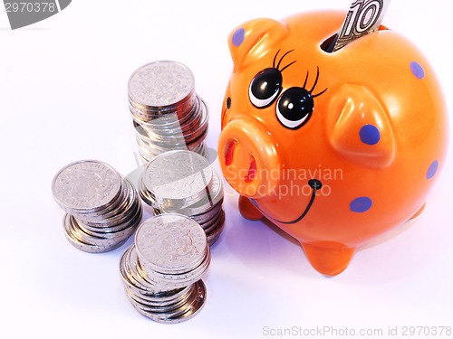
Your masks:
<svg viewBox="0 0 453 339"><path fill-rule="evenodd" d="M140 195L128 179L100 161L66 165L53 178L52 190L66 212L64 234L79 250L115 250L140 224Z"/></svg>

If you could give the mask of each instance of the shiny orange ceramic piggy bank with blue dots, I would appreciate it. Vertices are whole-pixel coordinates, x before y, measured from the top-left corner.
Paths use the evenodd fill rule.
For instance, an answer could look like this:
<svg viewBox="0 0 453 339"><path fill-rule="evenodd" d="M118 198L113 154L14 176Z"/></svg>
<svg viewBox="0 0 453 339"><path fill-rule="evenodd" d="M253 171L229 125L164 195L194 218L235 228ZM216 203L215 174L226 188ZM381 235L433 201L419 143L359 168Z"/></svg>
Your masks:
<svg viewBox="0 0 453 339"><path fill-rule="evenodd" d="M293 236L326 276L422 211L448 138L436 75L399 33L381 26L326 52L344 16L256 19L230 33L217 148L241 214Z"/></svg>

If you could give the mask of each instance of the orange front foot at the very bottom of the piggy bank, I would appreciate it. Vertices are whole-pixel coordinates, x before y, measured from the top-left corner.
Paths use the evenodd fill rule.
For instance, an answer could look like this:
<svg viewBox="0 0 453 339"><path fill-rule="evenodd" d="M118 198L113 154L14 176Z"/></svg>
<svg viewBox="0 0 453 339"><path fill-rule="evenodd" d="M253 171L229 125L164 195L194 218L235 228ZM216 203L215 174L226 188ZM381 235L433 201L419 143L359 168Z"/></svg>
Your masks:
<svg viewBox="0 0 453 339"><path fill-rule="evenodd" d="M324 276L342 273L355 253L355 249L335 241L302 242L302 247L313 268Z"/></svg>

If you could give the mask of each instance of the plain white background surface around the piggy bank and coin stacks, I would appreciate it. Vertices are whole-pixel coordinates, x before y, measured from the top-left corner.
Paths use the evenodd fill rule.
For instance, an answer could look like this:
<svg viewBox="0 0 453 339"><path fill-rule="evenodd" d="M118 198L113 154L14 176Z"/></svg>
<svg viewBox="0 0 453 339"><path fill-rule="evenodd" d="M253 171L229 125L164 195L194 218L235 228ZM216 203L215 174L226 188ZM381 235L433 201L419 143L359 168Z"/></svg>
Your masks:
<svg viewBox="0 0 453 339"><path fill-rule="evenodd" d="M452 19L445 4L393 0L383 24L419 45L452 107ZM210 108L207 145L217 148L232 70L228 33L257 17L281 19L317 8L346 12L350 5L74 0L62 13L17 31L2 9L0 335L260 338L270 336L268 329L293 326L384 334L395 326L400 334L403 326L452 326L451 160L423 215L361 249L335 278L317 273L283 232L242 219L236 193L227 189L226 229L204 278L207 304L178 325L154 323L130 306L119 274L126 245L87 254L63 236L63 212L51 193L63 165L88 158L122 174L136 168L127 106L132 71L149 61L186 64Z"/></svg>

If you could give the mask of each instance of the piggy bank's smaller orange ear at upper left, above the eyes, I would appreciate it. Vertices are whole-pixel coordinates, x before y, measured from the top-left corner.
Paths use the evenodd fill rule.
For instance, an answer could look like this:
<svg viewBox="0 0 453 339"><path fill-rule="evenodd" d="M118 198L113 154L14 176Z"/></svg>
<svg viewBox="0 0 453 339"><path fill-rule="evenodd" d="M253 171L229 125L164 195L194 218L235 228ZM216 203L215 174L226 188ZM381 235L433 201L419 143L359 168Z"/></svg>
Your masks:
<svg viewBox="0 0 453 339"><path fill-rule="evenodd" d="M286 26L272 19L255 19L237 27L228 37L235 69L272 51L272 47L286 34Z"/></svg>

